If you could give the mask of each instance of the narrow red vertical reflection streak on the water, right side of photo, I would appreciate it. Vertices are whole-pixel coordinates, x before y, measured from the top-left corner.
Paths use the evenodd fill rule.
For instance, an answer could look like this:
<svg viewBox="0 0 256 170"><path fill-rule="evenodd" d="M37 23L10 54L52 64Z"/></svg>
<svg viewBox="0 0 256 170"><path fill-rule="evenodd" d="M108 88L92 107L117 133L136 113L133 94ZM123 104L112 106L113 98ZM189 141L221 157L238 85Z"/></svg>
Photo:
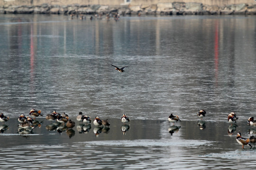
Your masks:
<svg viewBox="0 0 256 170"><path fill-rule="evenodd" d="M215 36L214 36L214 66L215 66L215 80L218 86L218 69L219 69L219 22L215 22Z"/></svg>

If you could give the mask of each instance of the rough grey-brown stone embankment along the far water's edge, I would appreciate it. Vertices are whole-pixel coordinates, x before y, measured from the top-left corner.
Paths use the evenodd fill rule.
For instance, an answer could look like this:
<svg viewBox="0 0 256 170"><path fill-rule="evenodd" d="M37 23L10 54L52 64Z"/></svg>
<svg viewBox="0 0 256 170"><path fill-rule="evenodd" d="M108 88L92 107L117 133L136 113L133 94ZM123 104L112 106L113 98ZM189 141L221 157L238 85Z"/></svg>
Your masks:
<svg viewBox="0 0 256 170"><path fill-rule="evenodd" d="M84 15L222 15L222 14L256 14L256 4L233 4L209 6L196 2L158 3L141 6L108 6L108 5L50 5L38 6L0 6L0 14L84 14Z"/></svg>

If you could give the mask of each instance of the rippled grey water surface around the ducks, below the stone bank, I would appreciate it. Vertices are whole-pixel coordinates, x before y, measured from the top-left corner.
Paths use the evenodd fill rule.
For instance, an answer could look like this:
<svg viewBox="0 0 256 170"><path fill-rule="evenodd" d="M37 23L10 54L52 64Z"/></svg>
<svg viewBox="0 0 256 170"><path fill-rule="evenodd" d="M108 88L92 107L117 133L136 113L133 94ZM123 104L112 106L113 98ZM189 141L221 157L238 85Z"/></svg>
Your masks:
<svg viewBox="0 0 256 170"><path fill-rule="evenodd" d="M242 150L256 102L256 17L173 16L79 20L0 15L2 169L247 169ZM119 73L111 66L129 66ZM73 130L18 134L18 116L79 111L110 119L98 137ZM207 111L200 129L196 113ZM238 114L228 133L227 115ZM120 117L132 120L126 135ZM170 113L179 115L169 133ZM40 119L40 120L41 120ZM79 125L76 122L76 126ZM71 138L69 137L71 136Z"/></svg>

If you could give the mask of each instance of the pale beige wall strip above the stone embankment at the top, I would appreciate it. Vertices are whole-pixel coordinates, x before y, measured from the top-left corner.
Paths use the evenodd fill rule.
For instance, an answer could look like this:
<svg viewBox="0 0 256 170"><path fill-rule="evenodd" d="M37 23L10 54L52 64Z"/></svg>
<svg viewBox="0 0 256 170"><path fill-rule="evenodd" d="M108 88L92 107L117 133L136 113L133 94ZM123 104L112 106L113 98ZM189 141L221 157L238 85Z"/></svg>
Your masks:
<svg viewBox="0 0 256 170"><path fill-rule="evenodd" d="M0 0L0 6L3 5L41 5L43 3L48 3L51 5L110 5L119 6L127 4L127 0ZM151 5L160 2L200 2L204 5L229 5L229 4L241 4L241 3L256 3L256 0L130 0L131 6L137 5Z"/></svg>

